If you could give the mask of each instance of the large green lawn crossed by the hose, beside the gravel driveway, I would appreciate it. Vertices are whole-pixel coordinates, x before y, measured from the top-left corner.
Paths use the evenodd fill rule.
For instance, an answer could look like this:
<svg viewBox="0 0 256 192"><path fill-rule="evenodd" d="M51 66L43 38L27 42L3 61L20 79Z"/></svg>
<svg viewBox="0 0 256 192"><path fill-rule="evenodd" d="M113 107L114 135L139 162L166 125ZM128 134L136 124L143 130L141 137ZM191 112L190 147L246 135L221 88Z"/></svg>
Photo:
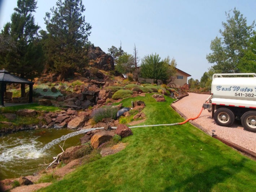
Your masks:
<svg viewBox="0 0 256 192"><path fill-rule="evenodd" d="M183 119L170 107L146 97L145 125ZM79 167L42 191L255 191L256 162L191 124L133 128L122 151Z"/></svg>

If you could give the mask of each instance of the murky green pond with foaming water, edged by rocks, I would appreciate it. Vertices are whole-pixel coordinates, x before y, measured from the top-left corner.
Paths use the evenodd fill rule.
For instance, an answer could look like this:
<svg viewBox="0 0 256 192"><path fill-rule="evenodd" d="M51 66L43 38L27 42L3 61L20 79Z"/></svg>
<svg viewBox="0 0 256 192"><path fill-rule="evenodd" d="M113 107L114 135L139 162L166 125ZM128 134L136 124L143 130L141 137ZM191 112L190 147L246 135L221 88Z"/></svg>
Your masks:
<svg viewBox="0 0 256 192"><path fill-rule="evenodd" d="M64 150L80 144L82 136L78 133L71 129L37 129L0 137L0 180L31 175L45 169L46 166L40 164L52 162L53 157L62 152L59 145L62 146L64 141Z"/></svg>

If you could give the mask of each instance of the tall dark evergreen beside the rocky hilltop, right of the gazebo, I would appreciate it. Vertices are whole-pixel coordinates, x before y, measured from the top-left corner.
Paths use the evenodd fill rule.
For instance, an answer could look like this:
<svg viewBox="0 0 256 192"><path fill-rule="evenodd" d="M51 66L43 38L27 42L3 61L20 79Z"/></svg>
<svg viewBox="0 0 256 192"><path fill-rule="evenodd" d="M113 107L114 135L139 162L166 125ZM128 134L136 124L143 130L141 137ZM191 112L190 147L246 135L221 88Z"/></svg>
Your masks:
<svg viewBox="0 0 256 192"><path fill-rule="evenodd" d="M57 0L50 10L44 18L48 33L42 31L48 64L64 79L86 66L91 25L82 16L82 0Z"/></svg>

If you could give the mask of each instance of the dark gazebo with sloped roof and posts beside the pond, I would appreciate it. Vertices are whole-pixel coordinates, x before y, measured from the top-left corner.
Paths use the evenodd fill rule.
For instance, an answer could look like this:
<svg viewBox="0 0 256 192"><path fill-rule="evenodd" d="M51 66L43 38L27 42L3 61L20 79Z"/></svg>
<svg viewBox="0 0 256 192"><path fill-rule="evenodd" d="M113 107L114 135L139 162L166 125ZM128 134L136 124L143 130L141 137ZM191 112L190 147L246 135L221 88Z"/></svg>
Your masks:
<svg viewBox="0 0 256 192"><path fill-rule="evenodd" d="M21 77L10 74L5 69L0 70L0 106L4 106L4 92L7 83L29 84L29 103L33 102L33 85L34 82L22 79Z"/></svg>

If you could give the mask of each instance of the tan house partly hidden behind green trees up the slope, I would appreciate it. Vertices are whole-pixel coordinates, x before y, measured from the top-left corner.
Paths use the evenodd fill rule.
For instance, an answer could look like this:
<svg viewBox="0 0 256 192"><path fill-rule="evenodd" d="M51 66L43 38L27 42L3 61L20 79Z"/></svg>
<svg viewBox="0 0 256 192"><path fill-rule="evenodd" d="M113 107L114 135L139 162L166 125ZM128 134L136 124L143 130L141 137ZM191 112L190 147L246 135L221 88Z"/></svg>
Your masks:
<svg viewBox="0 0 256 192"><path fill-rule="evenodd" d="M175 67L176 68L176 67ZM176 88L179 88L180 86L183 86L184 84L187 83L187 77L190 77L191 75L189 75L188 73L179 70L178 68L176 68L177 72L175 75L175 79L173 82L173 86ZM133 74L133 79L135 79L135 75ZM146 81L149 83L153 83L153 79L144 79L144 78L138 78L139 82L142 81ZM161 80L158 80L158 83L162 83Z"/></svg>

